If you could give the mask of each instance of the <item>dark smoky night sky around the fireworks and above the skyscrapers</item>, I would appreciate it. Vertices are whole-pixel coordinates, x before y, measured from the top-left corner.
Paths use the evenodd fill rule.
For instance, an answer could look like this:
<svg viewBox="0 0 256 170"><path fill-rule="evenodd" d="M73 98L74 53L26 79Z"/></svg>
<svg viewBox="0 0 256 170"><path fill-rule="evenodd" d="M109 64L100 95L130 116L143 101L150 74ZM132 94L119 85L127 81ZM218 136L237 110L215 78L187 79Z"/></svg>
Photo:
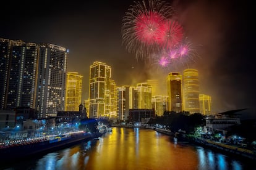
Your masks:
<svg viewBox="0 0 256 170"><path fill-rule="evenodd" d="M0 38L69 49L67 71L83 75L82 100L88 98L90 65L100 61L111 66L117 86L156 78L165 83L169 72L195 68L200 93L211 95L214 112L255 107L254 41L249 38L247 3L168 2L198 54L186 65L154 69L126 51L122 18L134 1L6 1L0 10Z"/></svg>

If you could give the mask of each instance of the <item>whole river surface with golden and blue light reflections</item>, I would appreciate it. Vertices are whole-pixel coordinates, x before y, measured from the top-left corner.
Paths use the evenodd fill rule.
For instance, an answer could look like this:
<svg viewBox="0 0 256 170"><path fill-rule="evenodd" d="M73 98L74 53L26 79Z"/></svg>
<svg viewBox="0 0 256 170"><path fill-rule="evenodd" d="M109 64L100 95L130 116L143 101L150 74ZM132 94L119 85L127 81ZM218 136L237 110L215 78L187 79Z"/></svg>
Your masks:
<svg viewBox="0 0 256 170"><path fill-rule="evenodd" d="M150 129L113 127L96 140L38 156L1 164L1 169L256 169L237 160L173 139Z"/></svg>

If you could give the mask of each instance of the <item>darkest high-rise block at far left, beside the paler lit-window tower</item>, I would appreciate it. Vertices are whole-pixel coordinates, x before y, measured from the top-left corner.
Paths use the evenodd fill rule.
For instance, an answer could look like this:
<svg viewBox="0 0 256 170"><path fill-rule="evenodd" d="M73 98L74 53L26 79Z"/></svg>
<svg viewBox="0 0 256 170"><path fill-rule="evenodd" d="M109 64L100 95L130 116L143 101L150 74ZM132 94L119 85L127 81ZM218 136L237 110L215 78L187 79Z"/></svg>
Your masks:
<svg viewBox="0 0 256 170"><path fill-rule="evenodd" d="M35 108L38 45L0 39L0 106Z"/></svg>

